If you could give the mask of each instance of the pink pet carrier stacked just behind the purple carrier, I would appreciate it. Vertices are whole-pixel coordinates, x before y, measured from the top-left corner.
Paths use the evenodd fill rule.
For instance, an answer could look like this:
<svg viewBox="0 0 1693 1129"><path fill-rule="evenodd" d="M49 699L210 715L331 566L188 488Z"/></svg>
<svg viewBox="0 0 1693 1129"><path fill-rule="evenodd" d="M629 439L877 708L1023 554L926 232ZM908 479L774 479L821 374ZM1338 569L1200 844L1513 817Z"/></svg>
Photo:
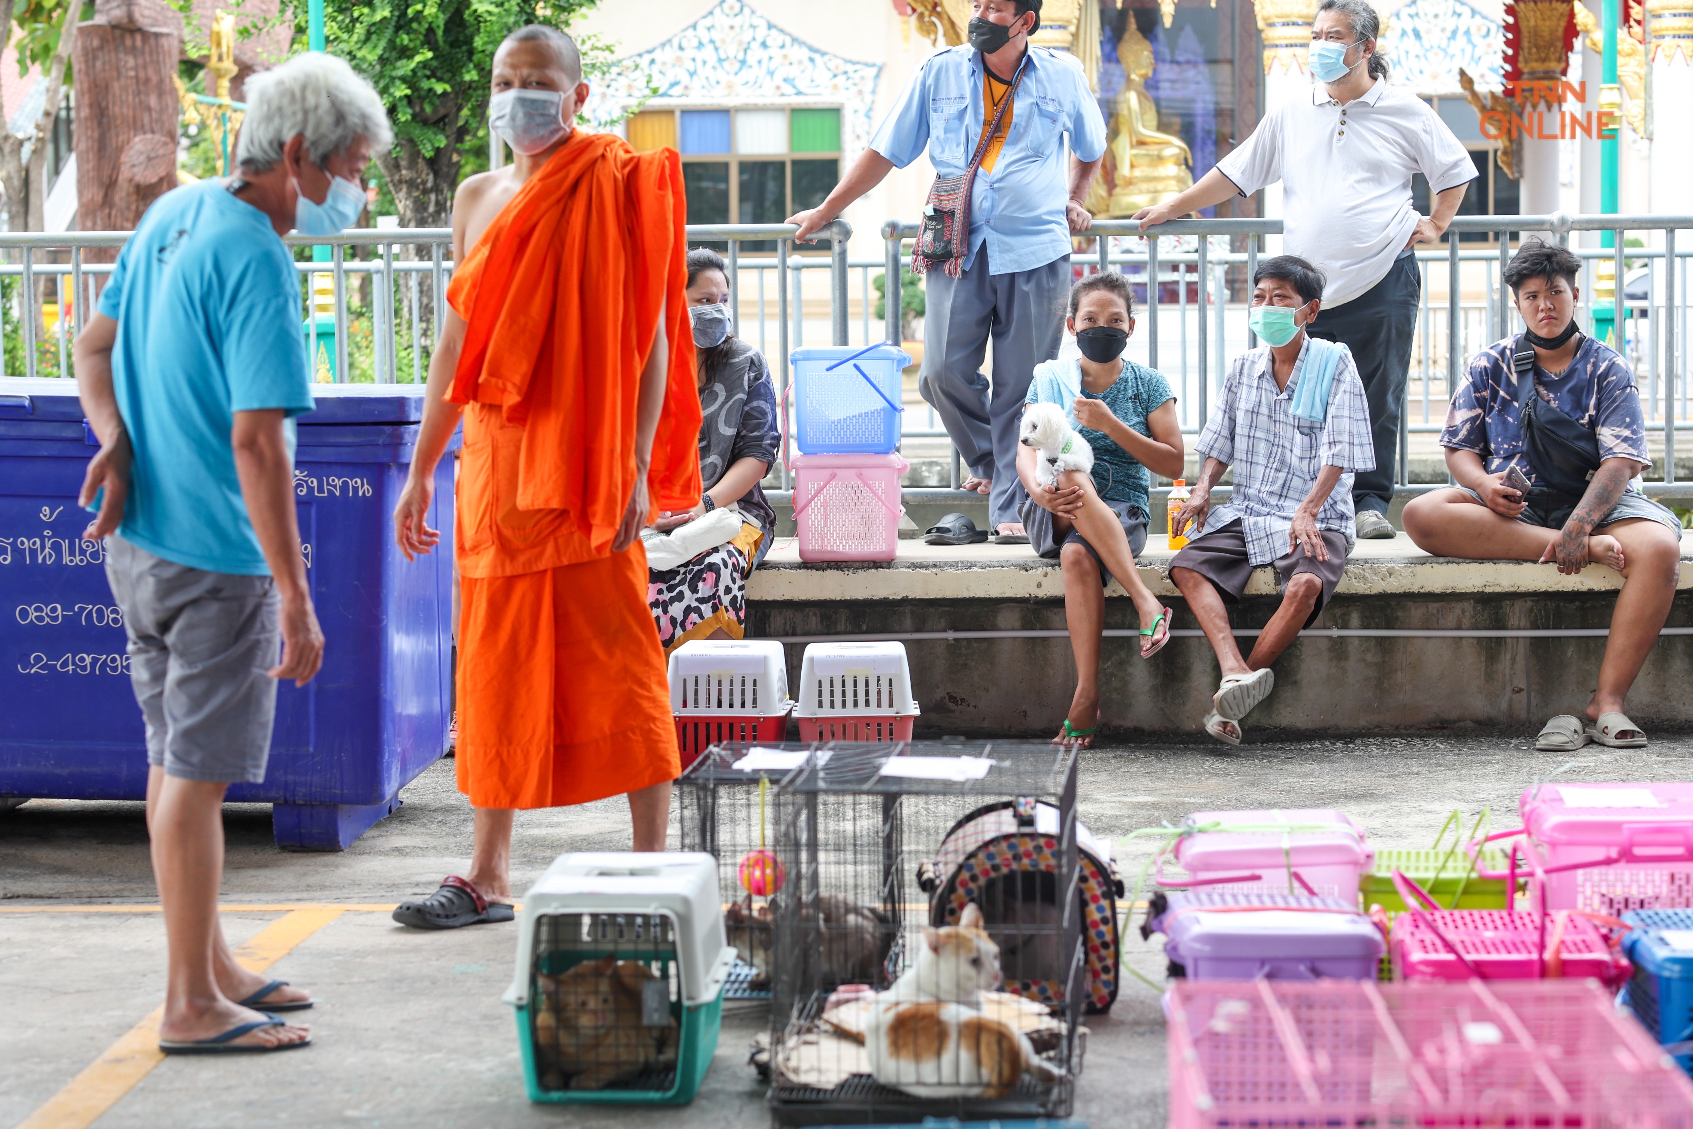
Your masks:
<svg viewBox="0 0 1693 1129"><path fill-rule="evenodd" d="M1158 885L1212 894L1304 894L1358 900L1358 882L1375 863L1365 831L1327 807L1195 811L1173 848L1160 851ZM1166 877L1173 855L1185 878Z"/></svg>

